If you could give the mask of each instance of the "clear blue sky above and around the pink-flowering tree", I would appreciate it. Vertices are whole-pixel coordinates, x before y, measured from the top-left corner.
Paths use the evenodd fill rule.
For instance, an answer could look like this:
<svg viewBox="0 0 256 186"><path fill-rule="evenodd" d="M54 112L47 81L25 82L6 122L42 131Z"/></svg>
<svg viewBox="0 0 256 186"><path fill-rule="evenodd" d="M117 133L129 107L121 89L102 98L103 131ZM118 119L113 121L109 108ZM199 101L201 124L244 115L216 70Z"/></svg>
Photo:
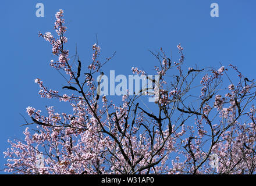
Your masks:
<svg viewBox="0 0 256 186"><path fill-rule="evenodd" d="M45 17L35 16L35 5L43 3ZM219 17L210 16L211 3L218 3ZM0 169L6 160L2 152L8 138L23 138L27 106L44 110L63 103L40 98L35 78L48 87L61 88L62 77L51 69L54 59L51 45L38 38L38 31L54 32L55 13L64 10L67 23L67 47L77 52L83 62L91 59L95 33L102 56L115 58L105 70L131 74L131 67L152 69L157 62L148 52L159 51L177 56L181 43L189 66L213 66L219 62L239 67L250 78L255 72L256 1L1 1L1 130ZM69 108L62 107L62 110ZM28 117L27 117L28 118ZM1 173L3 173L1 171Z"/></svg>

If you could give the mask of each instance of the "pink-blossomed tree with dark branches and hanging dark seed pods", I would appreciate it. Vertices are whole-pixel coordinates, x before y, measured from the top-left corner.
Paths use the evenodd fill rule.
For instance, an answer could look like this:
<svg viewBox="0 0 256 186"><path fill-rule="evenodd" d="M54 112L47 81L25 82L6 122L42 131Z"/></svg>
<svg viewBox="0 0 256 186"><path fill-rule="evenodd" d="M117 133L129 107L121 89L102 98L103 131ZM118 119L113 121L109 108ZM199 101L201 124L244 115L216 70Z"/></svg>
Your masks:
<svg viewBox="0 0 256 186"><path fill-rule="evenodd" d="M256 123L253 102L255 83L230 65L183 70L184 55L177 45L180 59L168 58L161 49L152 53L159 65L158 95L154 112L143 105L141 94L123 95L113 103L99 95L95 76L103 75L101 48L93 45L93 58L86 73L77 59L73 65L65 49L67 38L63 10L56 13L55 38L51 33L39 34L52 45L58 60L50 65L64 71L64 90L47 88L36 79L42 98L68 102L73 115L56 113L48 107L48 115L28 107L27 113L36 129L26 128L24 140L9 141L4 152L8 158L6 171L23 174L253 174L256 168ZM77 55L76 55L77 57ZM232 80L227 70L238 77ZM156 84L148 73L148 81ZM172 75L173 76L169 76ZM227 81L227 82L226 82ZM234 82L233 82L234 81ZM237 83L235 83L237 82ZM63 91L64 91L63 90ZM143 92L141 90L140 92ZM145 94L149 94L147 89ZM101 98L101 99L100 99Z"/></svg>

